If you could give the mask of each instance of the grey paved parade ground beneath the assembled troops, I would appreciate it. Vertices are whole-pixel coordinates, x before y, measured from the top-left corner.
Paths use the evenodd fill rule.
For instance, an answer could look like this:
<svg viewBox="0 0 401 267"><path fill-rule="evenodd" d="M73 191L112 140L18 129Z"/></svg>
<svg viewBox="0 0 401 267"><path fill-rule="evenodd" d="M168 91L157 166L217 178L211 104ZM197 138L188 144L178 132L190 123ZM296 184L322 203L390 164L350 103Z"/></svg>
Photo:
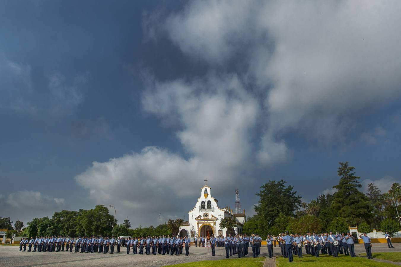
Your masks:
<svg viewBox="0 0 401 267"><path fill-rule="evenodd" d="M20 252L19 246L0 246L1 266L162 266L191 261L217 260L225 258L225 249L216 248L216 257L208 255L208 249L203 247L191 247L190 255L126 255L126 250L120 253L97 254L97 253L68 253L61 252ZM393 249L387 244L373 244L373 252L397 251L401 252L401 244L395 243ZM132 250L131 250L132 252ZM252 250L249 248L249 252ZM304 248L302 252L305 253ZM363 244L355 245L355 253L365 253ZM279 247L273 247L274 256L281 255ZM211 254L210 254L211 255ZM266 246L261 248L261 256L267 256ZM251 256L247 256L251 257ZM234 258L234 257L233 257ZM236 257L235 257L236 258ZM269 260L269 259L268 259Z"/></svg>

